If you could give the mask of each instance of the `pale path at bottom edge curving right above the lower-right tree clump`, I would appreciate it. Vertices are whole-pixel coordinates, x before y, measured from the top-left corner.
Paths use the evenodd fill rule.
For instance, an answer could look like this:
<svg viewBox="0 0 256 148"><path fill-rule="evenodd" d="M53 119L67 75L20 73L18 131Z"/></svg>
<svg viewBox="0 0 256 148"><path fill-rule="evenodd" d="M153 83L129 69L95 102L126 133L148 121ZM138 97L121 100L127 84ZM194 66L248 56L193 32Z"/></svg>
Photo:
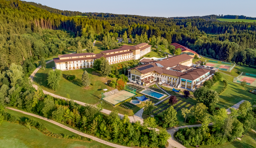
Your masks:
<svg viewBox="0 0 256 148"><path fill-rule="evenodd" d="M209 124L209 126L212 125L211 123ZM201 124L197 124L197 125L186 125L186 126L180 126L180 127L175 127L172 129L167 130L167 132L169 134L171 134L171 138L169 140L167 140L169 142L169 146L167 148L186 148L184 145L180 144L178 141L174 140L174 133L177 132L179 130L179 128L185 128L185 127L199 127L201 126Z"/></svg>

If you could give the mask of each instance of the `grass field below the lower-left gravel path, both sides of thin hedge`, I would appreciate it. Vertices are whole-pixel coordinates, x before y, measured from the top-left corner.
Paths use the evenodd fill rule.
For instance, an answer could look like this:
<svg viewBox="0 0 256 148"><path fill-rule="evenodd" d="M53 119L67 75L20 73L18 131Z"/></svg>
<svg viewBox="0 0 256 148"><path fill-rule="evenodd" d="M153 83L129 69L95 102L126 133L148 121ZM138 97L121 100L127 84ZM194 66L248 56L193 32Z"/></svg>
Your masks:
<svg viewBox="0 0 256 148"><path fill-rule="evenodd" d="M44 124L46 128L56 134L66 134L66 135L75 135L69 130L61 128L57 125L54 125L48 121L40 120L36 117L29 116L26 114L22 114L20 112L16 112L13 110L5 109L5 112L14 114L18 117L18 120L25 121L25 119L35 119L40 123ZM83 142L83 141L75 141L75 140L67 140L67 139L57 139L46 136L36 130L35 128L31 128L29 130L23 125L9 123L7 121L3 121L0 128L0 147L19 147L19 148L28 148L28 147L38 147L38 148L58 148L58 147L66 147L66 148L75 148L75 147L107 147L111 148L111 146L93 141L93 142Z"/></svg>

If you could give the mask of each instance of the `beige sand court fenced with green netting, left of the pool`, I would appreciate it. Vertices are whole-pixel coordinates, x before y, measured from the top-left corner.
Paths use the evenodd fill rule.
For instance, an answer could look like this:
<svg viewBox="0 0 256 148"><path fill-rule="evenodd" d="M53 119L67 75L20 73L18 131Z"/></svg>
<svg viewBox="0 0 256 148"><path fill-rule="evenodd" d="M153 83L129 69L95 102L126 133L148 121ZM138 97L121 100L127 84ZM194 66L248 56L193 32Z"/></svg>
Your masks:
<svg viewBox="0 0 256 148"><path fill-rule="evenodd" d="M129 99L130 97L132 96L135 96L136 94L133 94L133 93L130 93L128 91L125 91L125 90L122 90L122 91L119 91L117 93L114 93L114 94L111 94L111 95L108 95L104 98L102 98L103 100L115 105L115 104L118 104L124 100L127 100Z"/></svg>

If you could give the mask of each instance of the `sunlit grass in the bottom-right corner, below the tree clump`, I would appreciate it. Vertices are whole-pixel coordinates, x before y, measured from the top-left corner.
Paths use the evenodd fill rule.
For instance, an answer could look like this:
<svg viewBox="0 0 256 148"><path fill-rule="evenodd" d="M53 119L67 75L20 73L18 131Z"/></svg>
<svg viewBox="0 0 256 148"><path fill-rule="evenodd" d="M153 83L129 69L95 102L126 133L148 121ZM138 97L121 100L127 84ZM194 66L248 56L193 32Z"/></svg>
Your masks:
<svg viewBox="0 0 256 148"><path fill-rule="evenodd" d="M253 129L256 130L255 127ZM236 139L233 142L226 142L221 145L200 145L200 148L223 148L223 147L225 147L225 148L238 148L238 147L253 148L253 147L256 147L255 138L256 138L256 133L250 129L246 134L244 134L244 137L241 138L241 140ZM187 148L194 148L194 146L187 146Z"/></svg>

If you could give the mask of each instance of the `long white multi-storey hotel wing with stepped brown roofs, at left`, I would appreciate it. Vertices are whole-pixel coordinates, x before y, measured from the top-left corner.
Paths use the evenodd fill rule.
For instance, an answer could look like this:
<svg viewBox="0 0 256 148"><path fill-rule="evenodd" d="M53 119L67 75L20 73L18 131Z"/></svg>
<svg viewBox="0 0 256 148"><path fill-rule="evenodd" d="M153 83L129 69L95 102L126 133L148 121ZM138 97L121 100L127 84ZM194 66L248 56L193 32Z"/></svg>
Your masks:
<svg viewBox="0 0 256 148"><path fill-rule="evenodd" d="M151 52L151 45L141 43L135 46L123 45L119 49L102 51L99 54L78 53L59 55L54 58L55 67L60 70L90 68L95 59L105 57L109 64L120 63L132 59L140 59L143 55Z"/></svg>

